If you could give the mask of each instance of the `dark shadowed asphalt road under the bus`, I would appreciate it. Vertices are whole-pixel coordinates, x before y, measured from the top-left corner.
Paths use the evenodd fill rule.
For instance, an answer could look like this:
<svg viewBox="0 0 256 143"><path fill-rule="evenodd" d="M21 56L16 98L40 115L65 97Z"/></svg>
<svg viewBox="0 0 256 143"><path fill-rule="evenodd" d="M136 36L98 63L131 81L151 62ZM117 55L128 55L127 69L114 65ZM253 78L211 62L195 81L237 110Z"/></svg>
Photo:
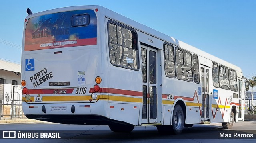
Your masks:
<svg viewBox="0 0 256 143"><path fill-rule="evenodd" d="M34 133L34 136L36 136L35 133L38 133L38 138L40 138L41 133L44 134L44 132L50 133L50 135L44 134L44 137L55 136L60 138L0 139L0 143L255 143L255 130L256 122L253 121L234 123L232 130L223 129L220 123L194 125L192 128L185 128L181 135L160 134L154 126L135 127L131 133L114 133L105 125L63 125L48 122L27 122L0 124L0 137L3 135L3 131L15 131L18 137L18 131L20 131L19 138L33 136L33 134L28 135L28 133Z"/></svg>

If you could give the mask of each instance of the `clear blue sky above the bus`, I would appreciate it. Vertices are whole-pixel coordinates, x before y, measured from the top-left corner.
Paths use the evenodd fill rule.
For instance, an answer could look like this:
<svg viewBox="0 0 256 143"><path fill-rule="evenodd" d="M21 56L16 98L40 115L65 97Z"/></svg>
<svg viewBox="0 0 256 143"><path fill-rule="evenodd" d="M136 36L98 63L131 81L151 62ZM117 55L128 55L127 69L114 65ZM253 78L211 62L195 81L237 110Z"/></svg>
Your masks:
<svg viewBox="0 0 256 143"><path fill-rule="evenodd" d="M104 6L241 67L247 78L256 76L256 0L4 0L0 59L20 63L27 8L80 5Z"/></svg>

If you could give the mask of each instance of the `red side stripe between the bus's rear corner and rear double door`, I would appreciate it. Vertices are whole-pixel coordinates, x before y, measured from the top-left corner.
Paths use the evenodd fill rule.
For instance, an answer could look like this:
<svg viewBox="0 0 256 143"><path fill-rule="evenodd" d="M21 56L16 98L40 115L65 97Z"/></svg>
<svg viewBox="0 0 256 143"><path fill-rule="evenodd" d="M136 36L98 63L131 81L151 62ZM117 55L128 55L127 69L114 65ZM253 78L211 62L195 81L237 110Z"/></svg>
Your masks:
<svg viewBox="0 0 256 143"><path fill-rule="evenodd" d="M89 93L95 92L93 88L90 88ZM97 93L110 93L110 94L122 94L122 95L131 95L131 96L142 96L142 92L123 90L123 89L114 89L114 88L100 88Z"/></svg>

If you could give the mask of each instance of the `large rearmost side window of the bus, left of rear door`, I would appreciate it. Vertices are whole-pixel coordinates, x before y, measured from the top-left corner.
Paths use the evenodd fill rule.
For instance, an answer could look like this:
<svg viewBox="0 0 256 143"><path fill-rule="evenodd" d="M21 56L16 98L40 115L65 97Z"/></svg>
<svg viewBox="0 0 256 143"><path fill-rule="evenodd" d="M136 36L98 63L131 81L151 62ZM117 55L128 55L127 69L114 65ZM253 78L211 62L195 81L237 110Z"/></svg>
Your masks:
<svg viewBox="0 0 256 143"><path fill-rule="evenodd" d="M123 26L109 23L108 43L112 65L138 70L139 55L136 32Z"/></svg>

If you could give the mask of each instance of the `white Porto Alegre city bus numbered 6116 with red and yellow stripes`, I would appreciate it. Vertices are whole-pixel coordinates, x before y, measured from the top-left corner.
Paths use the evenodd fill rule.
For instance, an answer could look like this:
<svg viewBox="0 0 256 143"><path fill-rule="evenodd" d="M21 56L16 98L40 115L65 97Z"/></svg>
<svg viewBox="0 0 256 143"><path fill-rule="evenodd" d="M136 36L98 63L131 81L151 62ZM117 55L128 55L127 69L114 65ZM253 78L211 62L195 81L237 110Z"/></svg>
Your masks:
<svg viewBox="0 0 256 143"><path fill-rule="evenodd" d="M114 132L244 120L239 67L102 6L32 14L22 44L27 118Z"/></svg>

